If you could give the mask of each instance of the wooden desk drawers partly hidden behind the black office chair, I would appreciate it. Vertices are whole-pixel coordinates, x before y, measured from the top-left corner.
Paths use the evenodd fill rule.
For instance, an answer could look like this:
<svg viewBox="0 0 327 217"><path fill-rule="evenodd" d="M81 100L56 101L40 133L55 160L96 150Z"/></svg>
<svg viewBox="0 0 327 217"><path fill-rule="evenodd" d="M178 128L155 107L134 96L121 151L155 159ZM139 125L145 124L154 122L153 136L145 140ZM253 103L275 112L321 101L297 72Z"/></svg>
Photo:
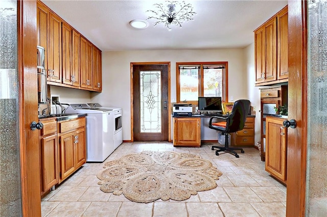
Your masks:
<svg viewBox="0 0 327 217"><path fill-rule="evenodd" d="M254 146L254 119L247 117L244 128L231 133L231 146Z"/></svg>

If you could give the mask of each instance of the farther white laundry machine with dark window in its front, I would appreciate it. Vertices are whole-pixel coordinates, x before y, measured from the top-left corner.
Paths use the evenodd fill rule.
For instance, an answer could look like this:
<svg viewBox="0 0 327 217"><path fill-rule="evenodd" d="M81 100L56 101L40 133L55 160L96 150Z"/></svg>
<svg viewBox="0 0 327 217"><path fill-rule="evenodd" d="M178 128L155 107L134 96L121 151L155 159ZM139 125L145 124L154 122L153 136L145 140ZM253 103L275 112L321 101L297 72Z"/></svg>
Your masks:
<svg viewBox="0 0 327 217"><path fill-rule="evenodd" d="M99 103L87 103L91 108L108 108L113 111L114 114L114 133L113 143L114 149L123 143L123 127L122 127L122 108L115 106L102 106Z"/></svg>

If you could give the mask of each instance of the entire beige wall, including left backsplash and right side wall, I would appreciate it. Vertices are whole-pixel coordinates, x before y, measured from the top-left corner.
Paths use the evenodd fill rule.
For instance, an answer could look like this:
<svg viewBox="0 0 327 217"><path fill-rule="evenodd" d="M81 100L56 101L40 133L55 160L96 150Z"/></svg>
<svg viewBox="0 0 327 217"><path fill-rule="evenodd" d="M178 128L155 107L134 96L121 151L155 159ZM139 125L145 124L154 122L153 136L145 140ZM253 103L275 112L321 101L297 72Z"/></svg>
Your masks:
<svg viewBox="0 0 327 217"><path fill-rule="evenodd" d="M123 108L123 140L131 140L130 63L171 62L171 102L176 101L176 62L228 61L228 95L234 100L247 98L255 106L255 142L260 140L260 92L254 86L254 44L244 49L138 50L102 53L102 93L51 87L62 103L99 102ZM231 101L231 100L229 100ZM205 132L205 140L217 138Z"/></svg>

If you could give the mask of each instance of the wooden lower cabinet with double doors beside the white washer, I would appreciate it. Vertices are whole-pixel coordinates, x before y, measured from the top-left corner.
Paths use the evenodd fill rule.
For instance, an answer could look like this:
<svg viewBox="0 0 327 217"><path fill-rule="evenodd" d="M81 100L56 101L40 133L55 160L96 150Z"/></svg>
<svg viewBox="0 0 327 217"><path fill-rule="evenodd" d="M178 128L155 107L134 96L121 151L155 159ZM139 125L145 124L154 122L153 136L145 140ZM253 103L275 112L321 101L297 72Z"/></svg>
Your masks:
<svg viewBox="0 0 327 217"><path fill-rule="evenodd" d="M86 162L85 118L58 122L59 183Z"/></svg>

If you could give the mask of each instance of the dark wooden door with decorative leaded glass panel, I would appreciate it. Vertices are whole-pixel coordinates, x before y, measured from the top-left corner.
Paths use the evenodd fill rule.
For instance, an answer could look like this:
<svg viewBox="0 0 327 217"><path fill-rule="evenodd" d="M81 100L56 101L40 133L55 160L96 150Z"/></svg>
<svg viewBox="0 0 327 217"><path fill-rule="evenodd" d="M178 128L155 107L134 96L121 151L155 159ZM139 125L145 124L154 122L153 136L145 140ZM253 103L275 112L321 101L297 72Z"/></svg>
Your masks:
<svg viewBox="0 0 327 217"><path fill-rule="evenodd" d="M133 65L133 141L168 141L168 64Z"/></svg>

